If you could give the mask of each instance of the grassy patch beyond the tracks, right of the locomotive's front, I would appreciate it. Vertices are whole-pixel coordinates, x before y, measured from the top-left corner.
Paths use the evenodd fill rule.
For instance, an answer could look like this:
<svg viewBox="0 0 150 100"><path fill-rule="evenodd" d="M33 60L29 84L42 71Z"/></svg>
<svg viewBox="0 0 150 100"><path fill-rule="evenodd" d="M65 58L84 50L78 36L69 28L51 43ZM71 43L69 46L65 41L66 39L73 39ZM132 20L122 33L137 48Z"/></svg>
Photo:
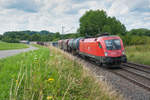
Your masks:
<svg viewBox="0 0 150 100"><path fill-rule="evenodd" d="M150 45L135 45L125 48L128 61L150 65Z"/></svg>

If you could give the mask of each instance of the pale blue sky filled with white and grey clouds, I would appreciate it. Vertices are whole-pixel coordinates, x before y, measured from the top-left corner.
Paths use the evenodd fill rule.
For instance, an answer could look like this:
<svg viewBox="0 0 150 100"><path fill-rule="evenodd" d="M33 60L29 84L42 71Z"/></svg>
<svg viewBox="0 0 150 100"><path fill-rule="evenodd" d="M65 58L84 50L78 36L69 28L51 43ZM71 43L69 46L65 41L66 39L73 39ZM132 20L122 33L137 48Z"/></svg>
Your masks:
<svg viewBox="0 0 150 100"><path fill-rule="evenodd" d="M6 31L76 32L88 10L104 10L127 30L150 29L150 0L0 0L0 34Z"/></svg>

